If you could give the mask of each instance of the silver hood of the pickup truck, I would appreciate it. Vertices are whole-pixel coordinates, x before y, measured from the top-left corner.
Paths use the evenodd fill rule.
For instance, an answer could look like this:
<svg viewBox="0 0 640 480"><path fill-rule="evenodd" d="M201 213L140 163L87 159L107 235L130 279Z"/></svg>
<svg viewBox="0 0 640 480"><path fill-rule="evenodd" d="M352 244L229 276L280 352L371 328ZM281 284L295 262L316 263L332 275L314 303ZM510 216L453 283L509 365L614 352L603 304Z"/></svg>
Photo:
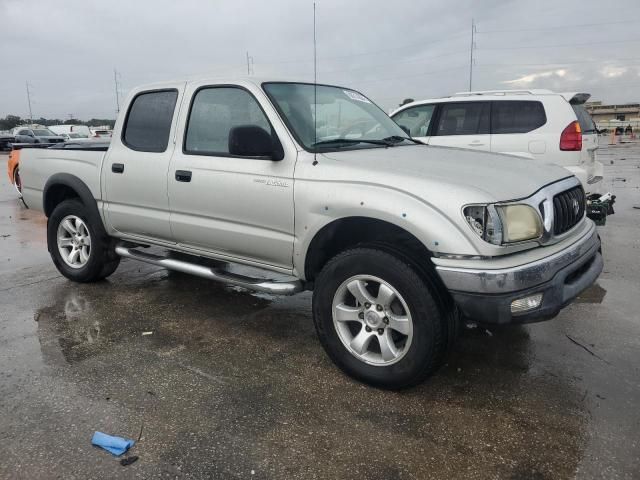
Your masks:
<svg viewBox="0 0 640 480"><path fill-rule="evenodd" d="M437 185L438 190L450 185L457 187L454 190L483 192L495 202L529 197L545 185L571 176L568 170L540 160L427 145L337 151L323 156L344 162L349 170L372 172L378 183L394 182L399 188L415 190L411 185L417 181L423 191L425 184Z"/></svg>

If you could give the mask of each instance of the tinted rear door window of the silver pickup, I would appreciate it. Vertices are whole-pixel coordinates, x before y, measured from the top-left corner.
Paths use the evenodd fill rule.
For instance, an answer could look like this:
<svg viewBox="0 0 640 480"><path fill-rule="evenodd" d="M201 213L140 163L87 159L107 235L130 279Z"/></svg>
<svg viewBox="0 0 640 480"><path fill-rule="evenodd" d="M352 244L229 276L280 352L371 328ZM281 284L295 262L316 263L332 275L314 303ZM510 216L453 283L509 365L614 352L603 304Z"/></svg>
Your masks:
<svg viewBox="0 0 640 480"><path fill-rule="evenodd" d="M131 103L125 120L123 143L140 152L164 152L169 144L177 98L177 90L139 94Z"/></svg>

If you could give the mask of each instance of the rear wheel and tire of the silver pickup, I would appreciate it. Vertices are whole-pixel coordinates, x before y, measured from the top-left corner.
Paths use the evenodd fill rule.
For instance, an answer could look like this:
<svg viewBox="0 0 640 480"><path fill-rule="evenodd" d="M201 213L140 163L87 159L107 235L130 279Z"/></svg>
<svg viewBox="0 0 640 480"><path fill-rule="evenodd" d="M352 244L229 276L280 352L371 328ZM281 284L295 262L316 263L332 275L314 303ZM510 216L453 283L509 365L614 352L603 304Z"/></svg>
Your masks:
<svg viewBox="0 0 640 480"><path fill-rule="evenodd" d="M49 216L47 245L58 271L74 282L102 280L120 264L102 220L77 199L61 202Z"/></svg>

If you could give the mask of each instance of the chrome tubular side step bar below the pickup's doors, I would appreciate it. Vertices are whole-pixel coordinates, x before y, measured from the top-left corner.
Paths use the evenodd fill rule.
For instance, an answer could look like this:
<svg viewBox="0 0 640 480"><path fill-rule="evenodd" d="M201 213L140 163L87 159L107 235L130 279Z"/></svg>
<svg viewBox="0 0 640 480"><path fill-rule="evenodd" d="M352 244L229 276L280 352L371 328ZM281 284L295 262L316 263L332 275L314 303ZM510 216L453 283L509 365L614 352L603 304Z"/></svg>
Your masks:
<svg viewBox="0 0 640 480"><path fill-rule="evenodd" d="M185 262L184 260L177 260L175 258L161 257L159 255L141 252L133 248L125 247L124 245L116 246L116 253L121 257L140 260L141 262L151 263L152 265L164 267L169 270L189 273L198 277L216 280L218 282L247 288L249 290L255 290L257 292L272 293L275 295L293 295L304 289L300 280L283 282L245 277L244 275L205 267L204 265L198 265L197 263Z"/></svg>

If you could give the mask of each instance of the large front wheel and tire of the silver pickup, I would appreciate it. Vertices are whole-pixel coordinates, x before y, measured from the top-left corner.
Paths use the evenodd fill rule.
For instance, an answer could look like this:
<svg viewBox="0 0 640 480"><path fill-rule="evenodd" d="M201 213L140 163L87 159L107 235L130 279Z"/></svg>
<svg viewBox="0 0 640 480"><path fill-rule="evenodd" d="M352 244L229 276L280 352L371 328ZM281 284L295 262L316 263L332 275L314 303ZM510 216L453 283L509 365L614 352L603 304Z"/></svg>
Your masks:
<svg viewBox="0 0 640 480"><path fill-rule="evenodd" d="M315 281L320 342L359 381L392 390L417 385L442 365L447 350L447 318L433 288L398 256L367 247L347 250Z"/></svg>

